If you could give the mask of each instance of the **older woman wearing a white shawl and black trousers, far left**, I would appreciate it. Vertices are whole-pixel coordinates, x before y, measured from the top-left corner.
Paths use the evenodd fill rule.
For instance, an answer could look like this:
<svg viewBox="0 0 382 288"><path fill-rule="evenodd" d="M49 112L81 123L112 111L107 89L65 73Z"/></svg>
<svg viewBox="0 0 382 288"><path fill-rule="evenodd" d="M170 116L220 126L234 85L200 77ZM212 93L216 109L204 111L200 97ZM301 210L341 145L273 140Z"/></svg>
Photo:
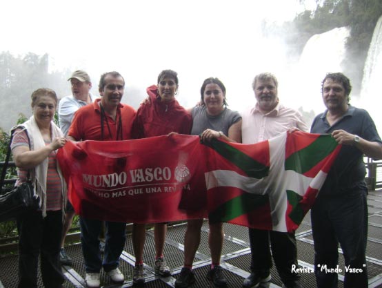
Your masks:
<svg viewBox="0 0 382 288"><path fill-rule="evenodd" d="M41 276L45 287L60 288L64 280L59 250L66 203L66 184L56 161L57 149L66 140L52 122L57 95L48 88L32 93L33 115L17 126L12 155L17 166L17 185L29 177L41 209L17 218L19 230L19 288L37 287L37 265L41 253Z"/></svg>

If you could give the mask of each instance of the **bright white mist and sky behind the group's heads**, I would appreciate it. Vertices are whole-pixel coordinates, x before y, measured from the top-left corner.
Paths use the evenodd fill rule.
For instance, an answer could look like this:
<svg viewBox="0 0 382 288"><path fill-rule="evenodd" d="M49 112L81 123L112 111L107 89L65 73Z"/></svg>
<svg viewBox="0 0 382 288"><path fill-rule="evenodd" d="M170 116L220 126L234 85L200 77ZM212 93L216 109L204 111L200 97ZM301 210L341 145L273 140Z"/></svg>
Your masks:
<svg viewBox="0 0 382 288"><path fill-rule="evenodd" d="M255 104L254 76L271 72L279 79L283 104L302 107L307 115L324 111L321 79L327 72L342 69L346 32L341 32L343 37L332 36L338 49L332 43L328 47L325 41L313 44L312 49L317 50L307 57L311 62L303 60L303 64L301 59L308 52L293 50L285 37L299 31L283 27L314 1L303 5L297 0L137 2L7 2L3 5L11 12L0 24L9 28L2 35L0 52L9 51L21 59L28 52L48 55L48 74L59 75L59 79L35 83L47 83L60 98L70 94L67 79L73 70L89 73L95 95L99 95L100 75L117 70L125 78L122 102L138 108L145 88L156 84L161 70L172 69L179 75L177 99L183 106L199 101L205 78L219 77L225 84L229 107L241 112ZM23 20L15 23L12 11L20 5L23 10L17 18ZM325 46L327 50L323 50ZM328 53L332 58L328 59ZM7 103L0 107L1 115L6 115L1 117L0 127L6 131L19 113L30 115L30 94L39 88L21 87L14 94L18 99L0 99ZM357 97L353 95L353 99ZM310 123L312 116L307 117Z"/></svg>

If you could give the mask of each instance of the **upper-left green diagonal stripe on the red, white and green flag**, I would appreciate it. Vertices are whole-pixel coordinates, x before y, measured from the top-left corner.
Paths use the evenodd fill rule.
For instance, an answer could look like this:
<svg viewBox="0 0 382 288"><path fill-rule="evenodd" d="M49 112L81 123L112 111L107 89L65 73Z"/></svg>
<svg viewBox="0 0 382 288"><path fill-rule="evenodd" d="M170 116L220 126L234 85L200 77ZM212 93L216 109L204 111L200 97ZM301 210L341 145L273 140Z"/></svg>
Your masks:
<svg viewBox="0 0 382 288"><path fill-rule="evenodd" d="M238 166L243 170L249 177L261 179L268 176L269 167L265 166L247 154L239 151L237 148L230 146L225 142L212 139L210 143L203 143L219 153L225 159L232 162L232 164Z"/></svg>

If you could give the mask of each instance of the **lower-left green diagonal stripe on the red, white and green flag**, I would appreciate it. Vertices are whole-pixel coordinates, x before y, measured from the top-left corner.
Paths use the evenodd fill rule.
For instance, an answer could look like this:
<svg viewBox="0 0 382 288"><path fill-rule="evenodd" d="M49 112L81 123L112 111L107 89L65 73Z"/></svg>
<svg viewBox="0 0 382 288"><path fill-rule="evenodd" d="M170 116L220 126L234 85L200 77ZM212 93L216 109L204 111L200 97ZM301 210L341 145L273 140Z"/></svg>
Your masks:
<svg viewBox="0 0 382 288"><path fill-rule="evenodd" d="M225 202L217 209L210 212L208 218L212 222L228 222L241 215L250 213L259 207L263 207L268 203L268 195L243 193L243 195Z"/></svg>

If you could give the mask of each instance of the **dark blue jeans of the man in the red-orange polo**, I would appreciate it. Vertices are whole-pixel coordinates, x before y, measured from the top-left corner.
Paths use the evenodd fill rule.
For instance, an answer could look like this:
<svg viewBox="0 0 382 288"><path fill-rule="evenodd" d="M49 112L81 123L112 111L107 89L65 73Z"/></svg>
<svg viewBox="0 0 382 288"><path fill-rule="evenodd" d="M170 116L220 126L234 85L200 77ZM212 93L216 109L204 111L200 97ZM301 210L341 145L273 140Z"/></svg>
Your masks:
<svg viewBox="0 0 382 288"><path fill-rule="evenodd" d="M99 236L102 221L79 218L81 226L81 244L86 272L97 272L101 267L108 272L119 266L119 256L126 241L126 224L121 222L105 222L105 252L101 260Z"/></svg>

